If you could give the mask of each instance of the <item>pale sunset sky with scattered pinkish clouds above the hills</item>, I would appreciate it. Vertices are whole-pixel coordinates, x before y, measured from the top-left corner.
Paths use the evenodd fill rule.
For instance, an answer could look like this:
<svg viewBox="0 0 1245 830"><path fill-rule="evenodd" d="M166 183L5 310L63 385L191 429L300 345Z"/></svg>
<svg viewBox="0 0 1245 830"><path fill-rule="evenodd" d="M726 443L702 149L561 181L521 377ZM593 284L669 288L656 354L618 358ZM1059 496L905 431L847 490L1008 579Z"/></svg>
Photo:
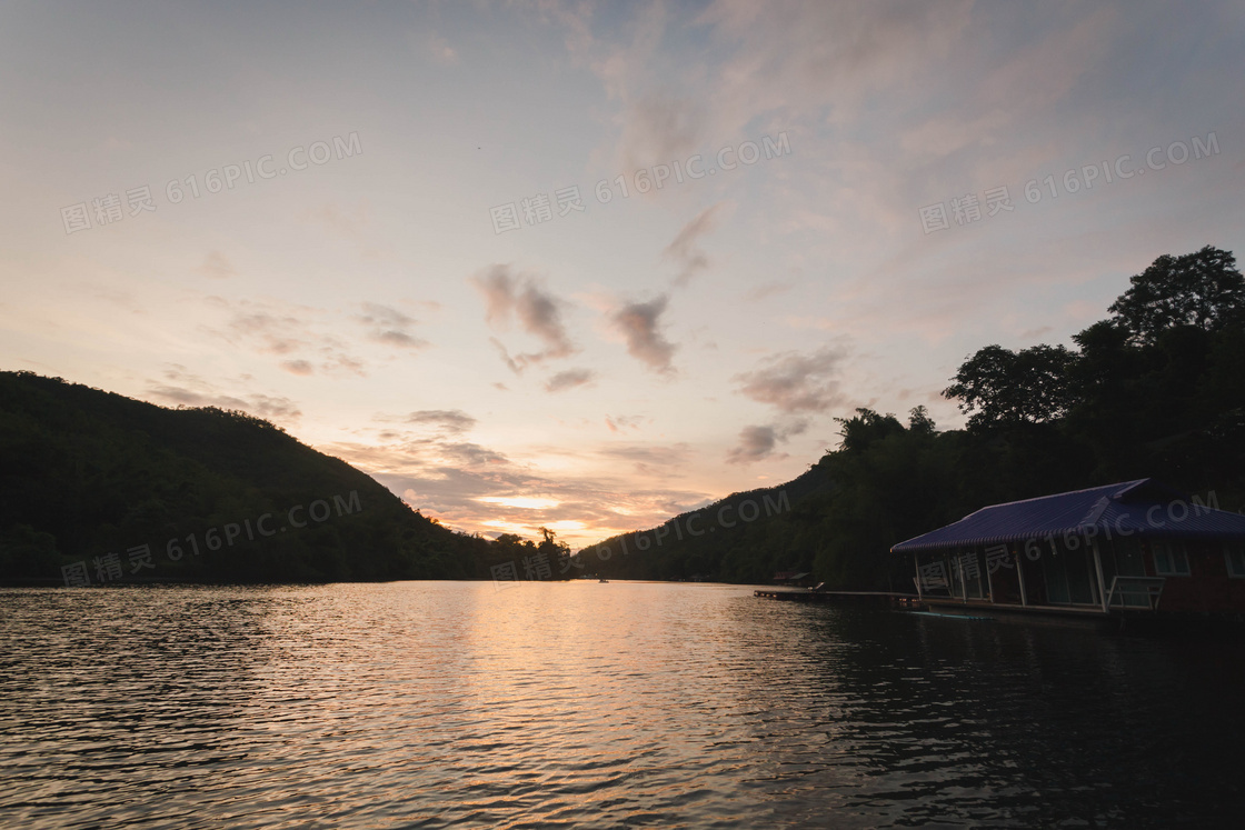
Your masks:
<svg viewBox="0 0 1245 830"><path fill-rule="evenodd" d="M1245 4L0 2L0 368L574 546L1245 255Z"/></svg>

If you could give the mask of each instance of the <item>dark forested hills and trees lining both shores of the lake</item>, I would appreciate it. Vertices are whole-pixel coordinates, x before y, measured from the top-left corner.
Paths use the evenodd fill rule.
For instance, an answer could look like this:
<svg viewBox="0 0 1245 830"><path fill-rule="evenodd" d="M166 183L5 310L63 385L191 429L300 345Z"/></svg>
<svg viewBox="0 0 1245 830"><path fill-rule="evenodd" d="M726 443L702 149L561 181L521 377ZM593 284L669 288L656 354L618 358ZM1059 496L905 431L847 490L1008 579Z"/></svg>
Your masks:
<svg viewBox="0 0 1245 830"><path fill-rule="evenodd" d="M1153 477L1245 505L1245 279L1229 251L1160 256L1073 347L997 345L939 431L858 409L797 479L571 557L453 533L266 421L0 372L0 582L634 579L906 589L889 549L986 504ZM68 569L66 571L65 569Z"/></svg>

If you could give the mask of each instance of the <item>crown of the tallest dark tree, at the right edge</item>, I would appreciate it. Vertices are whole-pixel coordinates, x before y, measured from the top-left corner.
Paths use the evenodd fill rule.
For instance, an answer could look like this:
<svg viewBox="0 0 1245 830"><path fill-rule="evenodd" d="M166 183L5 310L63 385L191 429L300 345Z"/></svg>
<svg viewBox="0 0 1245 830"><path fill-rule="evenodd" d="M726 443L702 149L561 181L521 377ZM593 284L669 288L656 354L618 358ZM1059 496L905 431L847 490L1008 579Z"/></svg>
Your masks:
<svg viewBox="0 0 1245 830"><path fill-rule="evenodd" d="M1109 311L1137 345L1153 345L1177 326L1216 331L1245 314L1245 277L1231 251L1206 245L1194 254L1164 254L1129 279Z"/></svg>

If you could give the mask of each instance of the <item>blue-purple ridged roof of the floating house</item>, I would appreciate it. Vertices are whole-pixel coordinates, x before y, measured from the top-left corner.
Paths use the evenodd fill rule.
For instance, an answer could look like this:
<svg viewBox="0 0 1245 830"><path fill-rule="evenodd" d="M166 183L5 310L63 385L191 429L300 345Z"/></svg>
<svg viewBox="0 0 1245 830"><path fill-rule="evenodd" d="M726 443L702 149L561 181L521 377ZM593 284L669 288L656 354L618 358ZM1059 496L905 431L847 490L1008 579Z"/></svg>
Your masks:
<svg viewBox="0 0 1245 830"><path fill-rule="evenodd" d="M1206 506L1154 479L995 504L955 524L901 541L893 553L947 550L1089 533L1099 538L1245 540L1245 516Z"/></svg>

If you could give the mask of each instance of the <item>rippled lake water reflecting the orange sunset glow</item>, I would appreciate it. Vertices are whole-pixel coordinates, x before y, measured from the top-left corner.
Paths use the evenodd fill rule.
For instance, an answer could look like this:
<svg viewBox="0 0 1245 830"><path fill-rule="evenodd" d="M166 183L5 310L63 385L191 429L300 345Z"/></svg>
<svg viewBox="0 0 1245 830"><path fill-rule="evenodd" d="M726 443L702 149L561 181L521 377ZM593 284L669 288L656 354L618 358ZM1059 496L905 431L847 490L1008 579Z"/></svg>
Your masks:
<svg viewBox="0 0 1245 830"><path fill-rule="evenodd" d="M1209 826L1245 806L1236 645L627 582L4 590L0 611L2 826Z"/></svg>

